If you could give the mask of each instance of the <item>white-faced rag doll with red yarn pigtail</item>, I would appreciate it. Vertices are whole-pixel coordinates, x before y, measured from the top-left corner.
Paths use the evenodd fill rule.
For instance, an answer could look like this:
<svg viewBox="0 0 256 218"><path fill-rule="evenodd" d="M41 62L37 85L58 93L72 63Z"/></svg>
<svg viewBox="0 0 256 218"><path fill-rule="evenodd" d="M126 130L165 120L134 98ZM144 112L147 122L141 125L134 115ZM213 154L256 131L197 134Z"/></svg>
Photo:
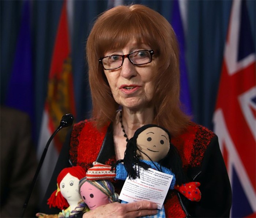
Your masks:
<svg viewBox="0 0 256 218"><path fill-rule="evenodd" d="M86 175L80 166L64 168L57 177L57 189L48 199L49 207L62 210L59 214L37 213L37 217L76 217L76 214L88 211L79 193L79 180Z"/></svg>

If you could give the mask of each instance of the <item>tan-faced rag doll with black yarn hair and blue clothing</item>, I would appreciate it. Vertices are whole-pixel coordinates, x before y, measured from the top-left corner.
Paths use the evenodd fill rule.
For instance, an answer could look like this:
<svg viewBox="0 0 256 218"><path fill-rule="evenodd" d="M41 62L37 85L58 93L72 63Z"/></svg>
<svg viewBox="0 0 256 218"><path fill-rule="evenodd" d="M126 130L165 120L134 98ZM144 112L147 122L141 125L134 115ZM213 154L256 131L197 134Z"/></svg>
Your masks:
<svg viewBox="0 0 256 218"><path fill-rule="evenodd" d="M173 175L169 189L176 189L190 201L200 201L200 183L188 182L170 133L162 126L148 124L135 131L127 143L124 159L116 163L116 179L139 178L139 168L134 165Z"/></svg>

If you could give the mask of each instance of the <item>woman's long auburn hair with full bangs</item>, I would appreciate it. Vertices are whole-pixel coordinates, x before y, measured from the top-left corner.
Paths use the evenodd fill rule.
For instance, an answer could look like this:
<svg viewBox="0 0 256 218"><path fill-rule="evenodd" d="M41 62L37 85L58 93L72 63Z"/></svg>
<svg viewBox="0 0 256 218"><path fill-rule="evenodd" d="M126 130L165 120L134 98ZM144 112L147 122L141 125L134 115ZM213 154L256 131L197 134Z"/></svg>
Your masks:
<svg viewBox="0 0 256 218"><path fill-rule="evenodd" d="M97 128L114 121L119 105L98 59L105 52L124 48L130 40L144 43L155 51L157 73L154 75L154 123L176 135L189 121L181 110L179 50L170 23L158 12L139 4L120 5L103 12L87 39L86 57L93 104L92 117Z"/></svg>

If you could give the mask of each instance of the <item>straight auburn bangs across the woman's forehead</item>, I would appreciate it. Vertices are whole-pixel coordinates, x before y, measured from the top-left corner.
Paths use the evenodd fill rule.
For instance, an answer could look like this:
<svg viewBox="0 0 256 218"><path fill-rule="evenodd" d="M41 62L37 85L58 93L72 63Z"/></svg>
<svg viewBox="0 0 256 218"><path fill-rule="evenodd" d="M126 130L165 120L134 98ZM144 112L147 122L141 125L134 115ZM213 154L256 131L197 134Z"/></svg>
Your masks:
<svg viewBox="0 0 256 218"><path fill-rule="evenodd" d="M158 34L157 28L152 26L147 17L120 15L105 22L95 42L98 44L100 57L104 57L105 52L124 48L131 40L135 40L138 45L145 43L156 50L158 40L155 38L159 38Z"/></svg>

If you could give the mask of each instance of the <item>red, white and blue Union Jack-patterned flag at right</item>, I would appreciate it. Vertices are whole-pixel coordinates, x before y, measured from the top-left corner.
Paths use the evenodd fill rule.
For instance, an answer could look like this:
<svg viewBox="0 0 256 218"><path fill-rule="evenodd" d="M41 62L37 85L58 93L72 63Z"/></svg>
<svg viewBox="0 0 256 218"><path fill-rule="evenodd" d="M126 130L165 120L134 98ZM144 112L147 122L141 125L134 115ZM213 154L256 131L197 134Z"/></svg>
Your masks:
<svg viewBox="0 0 256 218"><path fill-rule="evenodd" d="M246 1L233 1L214 131L231 182L231 217L256 217L256 72L255 47Z"/></svg>

